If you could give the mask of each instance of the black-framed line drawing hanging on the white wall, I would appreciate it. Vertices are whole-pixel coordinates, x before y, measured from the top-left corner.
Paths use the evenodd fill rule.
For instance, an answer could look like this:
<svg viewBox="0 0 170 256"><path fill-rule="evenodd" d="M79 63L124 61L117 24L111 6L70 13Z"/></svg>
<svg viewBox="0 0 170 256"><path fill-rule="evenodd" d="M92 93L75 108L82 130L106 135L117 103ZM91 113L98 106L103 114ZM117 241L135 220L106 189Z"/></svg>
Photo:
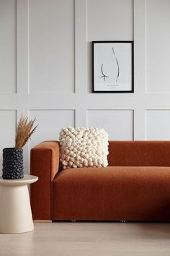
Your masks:
<svg viewBox="0 0 170 256"><path fill-rule="evenodd" d="M93 93L133 93L133 41L93 41Z"/></svg>

